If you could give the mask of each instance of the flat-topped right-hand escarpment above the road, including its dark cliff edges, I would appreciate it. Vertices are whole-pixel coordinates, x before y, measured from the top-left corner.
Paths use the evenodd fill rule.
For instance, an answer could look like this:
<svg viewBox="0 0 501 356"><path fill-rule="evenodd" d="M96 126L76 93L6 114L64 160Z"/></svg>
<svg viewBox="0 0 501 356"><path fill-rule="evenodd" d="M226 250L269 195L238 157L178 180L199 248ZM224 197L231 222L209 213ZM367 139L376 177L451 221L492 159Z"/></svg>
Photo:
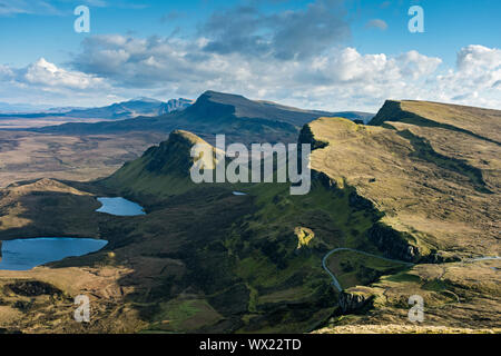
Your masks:
<svg viewBox="0 0 501 356"><path fill-rule="evenodd" d="M405 102L406 110L413 106L420 115L428 112L425 103ZM453 122L459 129L452 129L449 119L434 116L424 118L425 125L399 119L409 118L400 108L399 102L387 102L372 126L338 118L310 123L310 136L321 142L312 154L312 169L340 186L355 187L357 195L384 214L369 235L385 253L406 260L498 255L501 162L497 134L473 130L471 122L484 116L471 118L472 109L463 112L469 119L463 122L459 116ZM499 111L484 111L494 120L490 126L498 127Z"/></svg>

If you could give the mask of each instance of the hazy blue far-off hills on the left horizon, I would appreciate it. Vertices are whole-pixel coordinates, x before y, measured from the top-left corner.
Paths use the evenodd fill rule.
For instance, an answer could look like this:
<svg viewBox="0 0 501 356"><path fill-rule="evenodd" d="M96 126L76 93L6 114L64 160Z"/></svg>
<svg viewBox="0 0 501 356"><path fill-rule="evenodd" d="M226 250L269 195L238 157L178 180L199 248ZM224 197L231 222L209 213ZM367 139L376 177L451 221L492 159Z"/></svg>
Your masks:
<svg viewBox="0 0 501 356"><path fill-rule="evenodd" d="M164 102L160 100L143 97L99 108L51 108L42 110L41 112L32 112L32 109L35 107L30 109L29 106L12 106L9 109L9 106L0 105L0 110L3 110L2 108L6 108L6 111L9 111L0 115L0 117L8 116L18 118L42 118L57 115L58 117L80 119L132 119L139 116L156 117L173 111L184 110L193 102L193 100L184 98L170 99L167 102ZM18 110L12 110L14 108L17 108ZM23 108L29 112L19 112L22 111Z"/></svg>

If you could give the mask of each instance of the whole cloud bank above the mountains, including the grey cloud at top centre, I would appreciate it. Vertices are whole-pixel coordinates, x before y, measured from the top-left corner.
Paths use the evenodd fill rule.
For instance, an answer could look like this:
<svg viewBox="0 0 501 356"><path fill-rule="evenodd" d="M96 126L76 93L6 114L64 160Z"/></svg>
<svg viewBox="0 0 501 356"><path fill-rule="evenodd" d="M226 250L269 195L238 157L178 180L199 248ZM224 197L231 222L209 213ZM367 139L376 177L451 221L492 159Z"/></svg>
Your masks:
<svg viewBox="0 0 501 356"><path fill-rule="evenodd" d="M190 36L91 34L66 65L48 58L26 68L0 66L0 82L11 85L0 86L0 95L47 102L57 92L77 101L65 105L81 106L92 97L106 105L107 96L197 97L213 89L331 111L374 111L387 98L501 107L500 49L458 48L455 66L416 50L362 52L347 46L341 0L287 11L256 3L208 14Z"/></svg>

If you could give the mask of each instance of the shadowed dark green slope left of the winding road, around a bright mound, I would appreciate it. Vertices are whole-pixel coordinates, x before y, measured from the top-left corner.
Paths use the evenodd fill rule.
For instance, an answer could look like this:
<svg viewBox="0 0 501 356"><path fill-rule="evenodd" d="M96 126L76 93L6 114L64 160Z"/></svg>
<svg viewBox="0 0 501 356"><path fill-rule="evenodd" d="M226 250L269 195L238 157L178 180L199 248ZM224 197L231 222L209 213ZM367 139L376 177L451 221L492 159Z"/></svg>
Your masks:
<svg viewBox="0 0 501 356"><path fill-rule="evenodd" d="M250 290L250 313L240 332L311 329L335 308L323 256L341 246L375 250L364 236L379 215L352 206L351 190L333 190L321 181L314 181L306 196L291 196L287 185L259 185L249 192L257 210L225 241L236 258L237 275ZM301 248L297 227L314 231ZM275 312L271 322L269 312L281 305L287 308Z"/></svg>

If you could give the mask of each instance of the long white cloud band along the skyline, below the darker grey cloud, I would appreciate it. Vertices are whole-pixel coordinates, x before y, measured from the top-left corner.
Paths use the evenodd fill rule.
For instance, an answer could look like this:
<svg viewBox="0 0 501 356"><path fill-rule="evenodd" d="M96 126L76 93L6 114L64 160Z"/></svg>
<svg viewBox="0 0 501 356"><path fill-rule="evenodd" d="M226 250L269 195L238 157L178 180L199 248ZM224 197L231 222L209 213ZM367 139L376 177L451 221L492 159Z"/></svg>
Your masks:
<svg viewBox="0 0 501 356"><path fill-rule="evenodd" d="M196 98L213 89L327 110L376 111L389 98L501 108L499 49L465 47L458 66L444 68L440 58L418 51L364 55L347 47L283 60L209 53L204 43L203 38L90 37L72 70L45 59L23 69L0 66L0 81L7 83L0 95L12 91L1 89L10 86L23 97L42 91L46 98L62 96L65 105L101 105L137 96Z"/></svg>

